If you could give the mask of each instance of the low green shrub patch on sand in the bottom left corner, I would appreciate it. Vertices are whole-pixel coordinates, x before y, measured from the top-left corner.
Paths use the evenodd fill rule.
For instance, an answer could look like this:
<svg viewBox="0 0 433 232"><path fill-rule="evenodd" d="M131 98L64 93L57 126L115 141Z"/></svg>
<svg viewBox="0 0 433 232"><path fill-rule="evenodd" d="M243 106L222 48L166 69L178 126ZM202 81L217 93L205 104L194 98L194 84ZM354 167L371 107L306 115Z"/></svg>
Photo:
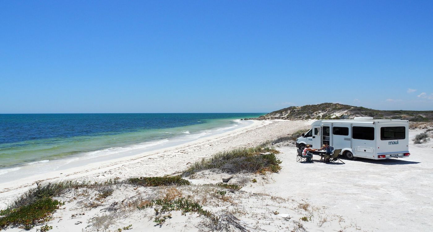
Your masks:
<svg viewBox="0 0 433 232"><path fill-rule="evenodd" d="M53 200L50 197L43 197L35 200L26 206L15 209L5 209L0 211L0 229L7 227L19 227L22 229L32 229L34 226L47 222L51 215L63 203Z"/></svg>

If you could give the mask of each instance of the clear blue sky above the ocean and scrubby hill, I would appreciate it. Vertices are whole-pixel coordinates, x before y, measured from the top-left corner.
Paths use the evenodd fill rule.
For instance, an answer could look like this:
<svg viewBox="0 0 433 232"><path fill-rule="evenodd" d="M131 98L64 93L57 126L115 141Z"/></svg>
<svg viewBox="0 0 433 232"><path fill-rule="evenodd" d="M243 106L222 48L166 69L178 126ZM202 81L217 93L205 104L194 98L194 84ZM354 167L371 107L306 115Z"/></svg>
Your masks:
<svg viewBox="0 0 433 232"><path fill-rule="evenodd" d="M433 110L433 1L0 1L0 113Z"/></svg>

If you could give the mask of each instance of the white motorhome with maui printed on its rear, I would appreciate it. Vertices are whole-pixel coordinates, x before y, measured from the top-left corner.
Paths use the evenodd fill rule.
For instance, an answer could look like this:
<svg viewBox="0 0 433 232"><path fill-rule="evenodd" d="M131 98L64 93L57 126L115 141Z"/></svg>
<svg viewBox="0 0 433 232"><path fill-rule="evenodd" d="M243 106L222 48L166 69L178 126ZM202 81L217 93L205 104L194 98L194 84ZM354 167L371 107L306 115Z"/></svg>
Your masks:
<svg viewBox="0 0 433 232"><path fill-rule="evenodd" d="M297 139L296 147L304 149L309 144L320 148L324 143L342 149L341 154L351 160L408 157L409 121L372 117L317 120Z"/></svg>

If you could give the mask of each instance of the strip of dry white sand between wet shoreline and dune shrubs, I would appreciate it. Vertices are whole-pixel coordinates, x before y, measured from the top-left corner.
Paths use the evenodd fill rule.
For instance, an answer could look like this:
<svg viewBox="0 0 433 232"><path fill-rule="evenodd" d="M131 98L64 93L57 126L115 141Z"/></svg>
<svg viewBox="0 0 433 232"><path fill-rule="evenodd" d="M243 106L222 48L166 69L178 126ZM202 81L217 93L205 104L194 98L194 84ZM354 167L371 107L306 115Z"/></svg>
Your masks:
<svg viewBox="0 0 433 232"><path fill-rule="evenodd" d="M274 125L275 123L286 124L289 128L293 127L293 125L288 125L290 122L284 123L276 120L251 120L251 122L251 125L248 126L235 128L227 132L200 138L180 145L146 151L123 158L95 162L83 165L79 168L62 170L61 172L51 171L44 174L21 178L19 180L4 182L0 189L0 209L5 208L17 195L22 194L30 187L36 186L36 182L53 182L70 179L79 181L100 181L116 177L126 178L134 176L162 176L165 174L173 174L183 171L189 164L192 164L201 158L210 157L218 151L229 150L239 146L259 144L265 140L273 139L275 136L289 133L266 132L266 129L260 130L260 128L266 127L268 129L267 126ZM297 127L304 127L308 122L294 122L294 124ZM273 130L270 129L269 131ZM257 132L262 133L262 136L257 136ZM234 139L239 141L235 143L233 142ZM205 150L206 152L201 152Z"/></svg>

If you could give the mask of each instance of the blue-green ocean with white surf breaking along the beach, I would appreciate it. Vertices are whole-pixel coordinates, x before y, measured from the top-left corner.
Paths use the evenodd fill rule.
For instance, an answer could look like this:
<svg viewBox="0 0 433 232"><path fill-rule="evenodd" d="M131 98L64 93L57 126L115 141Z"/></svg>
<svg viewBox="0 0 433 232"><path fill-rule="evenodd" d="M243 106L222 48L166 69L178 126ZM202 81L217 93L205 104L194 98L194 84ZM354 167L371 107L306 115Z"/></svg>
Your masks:
<svg viewBox="0 0 433 232"><path fill-rule="evenodd" d="M110 154L135 155L182 144L247 126L248 121L240 119L261 115L263 113L0 114L0 177L8 177L19 170L33 174L46 167L48 171L57 170L78 159L96 162L110 158Z"/></svg>

